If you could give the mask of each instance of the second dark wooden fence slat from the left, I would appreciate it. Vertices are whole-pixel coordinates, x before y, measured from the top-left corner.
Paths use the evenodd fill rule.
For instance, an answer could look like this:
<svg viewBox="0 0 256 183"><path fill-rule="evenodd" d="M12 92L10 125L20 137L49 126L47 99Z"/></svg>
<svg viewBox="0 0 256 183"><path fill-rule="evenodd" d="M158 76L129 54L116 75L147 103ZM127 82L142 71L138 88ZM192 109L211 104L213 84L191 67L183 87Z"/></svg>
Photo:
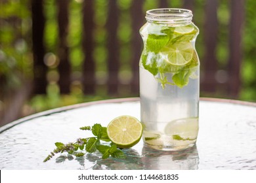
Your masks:
<svg viewBox="0 0 256 183"><path fill-rule="evenodd" d="M56 1L58 8L58 58L60 59L60 64L58 65L58 73L60 75L60 79L58 80L58 84L60 87L60 93L70 93L71 84L71 65L67 42L69 3L70 0Z"/></svg>

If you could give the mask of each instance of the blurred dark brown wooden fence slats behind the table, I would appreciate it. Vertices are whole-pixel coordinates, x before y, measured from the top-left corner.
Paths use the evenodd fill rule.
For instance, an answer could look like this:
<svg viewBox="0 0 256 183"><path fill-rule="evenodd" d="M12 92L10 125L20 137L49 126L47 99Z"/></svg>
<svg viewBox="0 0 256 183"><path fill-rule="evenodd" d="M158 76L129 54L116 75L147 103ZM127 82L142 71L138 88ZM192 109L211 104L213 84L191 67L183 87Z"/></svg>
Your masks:
<svg viewBox="0 0 256 183"><path fill-rule="evenodd" d="M68 36L69 24L69 2L70 0L56 1L58 8L58 58L60 64L58 65L58 72L60 78L58 85L60 93L69 93L70 84L72 82L72 71L69 59L69 47L66 44ZM84 0L82 3L83 14L83 35L82 48L85 54L83 60L83 75L81 83L83 85L83 93L95 93L95 59L93 58L93 51L95 49L93 31L94 24L94 2L93 0ZM45 16L43 11L43 0L32 0L32 20L33 20L33 56L34 56L34 92L45 93L47 86L47 66L43 63L45 56L45 46L43 44L44 37L44 22ZM142 41L139 35L139 28L144 24L144 14L142 11L143 0L133 0L130 8L131 16L131 70L132 78L128 84L131 86L131 93L138 95L139 93L139 58L142 50ZM169 7L170 1L159 0L158 8ZM202 92L217 92L218 88L222 88L224 92L232 97L236 97L240 90L240 64L242 61L242 25L244 21L244 1L230 0L230 20L229 20L229 48L228 48L228 64L224 73L218 72L218 61L216 56L217 49L217 36L218 36L218 1L205 0L205 12L202 14L204 23L203 30L203 44L205 48L204 55L200 58L202 63ZM106 20L107 41L106 48L108 52L107 67L108 67L108 93L118 93L118 72L120 68L119 57L119 41L117 38L117 28L119 25L120 10L117 7L116 0L108 0L108 14ZM184 0L182 8L189 8L194 10L195 5L192 0ZM200 28L202 28L200 27ZM223 75L225 79L219 80L218 77Z"/></svg>

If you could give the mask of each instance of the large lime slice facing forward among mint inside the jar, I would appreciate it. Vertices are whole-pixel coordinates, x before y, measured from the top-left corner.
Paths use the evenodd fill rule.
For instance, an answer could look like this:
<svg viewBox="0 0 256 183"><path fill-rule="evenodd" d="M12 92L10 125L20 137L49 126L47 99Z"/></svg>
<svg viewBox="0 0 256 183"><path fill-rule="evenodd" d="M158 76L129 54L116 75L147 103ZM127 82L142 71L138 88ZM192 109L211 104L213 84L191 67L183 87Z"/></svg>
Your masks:
<svg viewBox="0 0 256 183"><path fill-rule="evenodd" d="M189 63L193 58L193 52L194 48L190 42L179 42L161 49L165 61L179 66Z"/></svg>

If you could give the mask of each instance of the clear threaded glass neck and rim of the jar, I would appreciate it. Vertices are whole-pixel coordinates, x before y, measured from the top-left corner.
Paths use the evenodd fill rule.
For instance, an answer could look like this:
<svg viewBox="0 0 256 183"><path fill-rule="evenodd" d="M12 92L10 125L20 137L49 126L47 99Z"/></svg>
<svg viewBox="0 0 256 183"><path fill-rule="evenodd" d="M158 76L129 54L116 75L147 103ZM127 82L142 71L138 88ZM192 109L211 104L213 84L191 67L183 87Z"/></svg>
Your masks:
<svg viewBox="0 0 256 183"><path fill-rule="evenodd" d="M146 11L146 21L157 24L191 24L192 11L181 8L158 8Z"/></svg>

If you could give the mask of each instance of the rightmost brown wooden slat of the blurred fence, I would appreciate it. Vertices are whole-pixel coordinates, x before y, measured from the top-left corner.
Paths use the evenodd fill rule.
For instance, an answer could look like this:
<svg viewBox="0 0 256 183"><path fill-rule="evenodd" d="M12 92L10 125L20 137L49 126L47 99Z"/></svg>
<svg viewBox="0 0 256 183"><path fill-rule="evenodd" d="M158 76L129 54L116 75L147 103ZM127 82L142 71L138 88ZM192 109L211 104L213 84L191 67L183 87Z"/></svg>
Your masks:
<svg viewBox="0 0 256 183"><path fill-rule="evenodd" d="M232 0L230 3L228 93L238 97L240 91L240 68L242 62L242 29L244 22L244 0Z"/></svg>

